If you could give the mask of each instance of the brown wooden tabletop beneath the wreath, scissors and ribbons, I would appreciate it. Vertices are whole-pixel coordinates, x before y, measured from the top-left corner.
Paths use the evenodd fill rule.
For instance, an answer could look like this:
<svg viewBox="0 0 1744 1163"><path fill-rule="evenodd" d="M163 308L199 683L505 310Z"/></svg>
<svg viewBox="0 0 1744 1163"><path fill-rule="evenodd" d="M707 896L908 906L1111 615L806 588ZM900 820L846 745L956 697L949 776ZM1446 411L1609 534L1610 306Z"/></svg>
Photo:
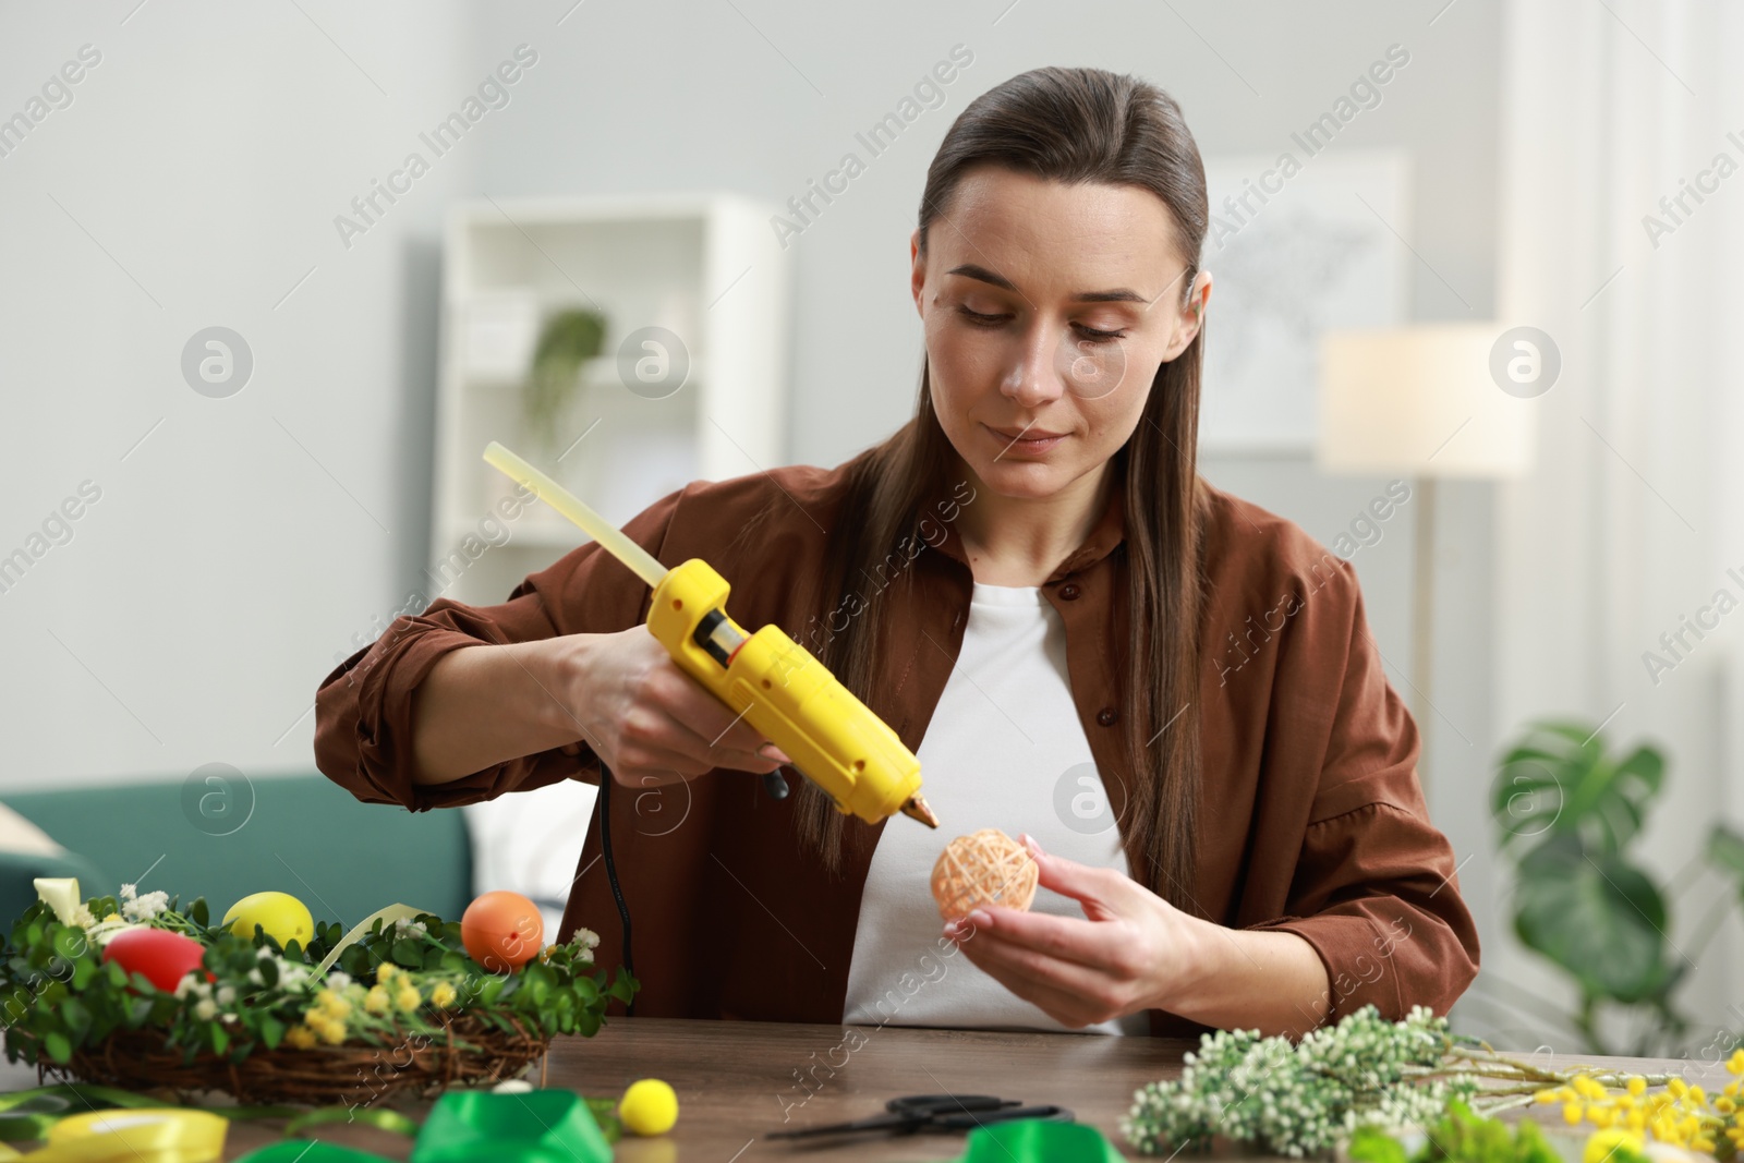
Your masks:
<svg viewBox="0 0 1744 1163"><path fill-rule="evenodd" d="M853 1034L853 1037L849 1037ZM950 1160L957 1135L870 1137L806 1146L769 1140L774 1130L874 1114L886 1098L914 1093L991 1093L1031 1104L1053 1102L1139 1158L1120 1137L1132 1092L1174 1078L1184 1041L1083 1034L982 1034L900 1027L783 1025L771 1022L691 1022L612 1018L598 1037L553 1043L548 1086L614 1095L638 1078L663 1078L678 1092L678 1126L661 1139L626 1137L626 1163L752 1163L753 1160ZM1571 1065L1571 1058L1550 1058ZM1683 1072L1711 1090L1721 1067L1704 1062L1582 1058L1615 1069ZM802 1088L799 1078L806 1076ZM35 1086L35 1071L0 1064L0 1086ZM415 1118L422 1111L412 1111ZM276 1123L239 1123L227 1160L274 1142ZM323 1139L405 1160L410 1140L358 1126L335 1126ZM1275 1163L1275 1161L1273 1161Z"/></svg>

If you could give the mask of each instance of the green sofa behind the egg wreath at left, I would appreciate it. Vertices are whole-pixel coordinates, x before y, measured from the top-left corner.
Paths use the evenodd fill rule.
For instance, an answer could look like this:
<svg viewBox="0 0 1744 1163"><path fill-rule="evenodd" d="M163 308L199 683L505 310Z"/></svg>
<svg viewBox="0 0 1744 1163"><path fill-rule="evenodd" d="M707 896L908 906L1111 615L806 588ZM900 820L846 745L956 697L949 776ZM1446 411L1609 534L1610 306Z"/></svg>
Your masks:
<svg viewBox="0 0 1744 1163"><path fill-rule="evenodd" d="M77 875L85 896L122 884L183 903L204 896L215 919L249 893L277 889L317 921L345 926L394 903L457 921L473 900L473 851L457 809L361 804L319 772L213 786L225 813L202 814L216 802L204 776L0 797L66 849L0 854L0 933L37 900L35 877Z"/></svg>

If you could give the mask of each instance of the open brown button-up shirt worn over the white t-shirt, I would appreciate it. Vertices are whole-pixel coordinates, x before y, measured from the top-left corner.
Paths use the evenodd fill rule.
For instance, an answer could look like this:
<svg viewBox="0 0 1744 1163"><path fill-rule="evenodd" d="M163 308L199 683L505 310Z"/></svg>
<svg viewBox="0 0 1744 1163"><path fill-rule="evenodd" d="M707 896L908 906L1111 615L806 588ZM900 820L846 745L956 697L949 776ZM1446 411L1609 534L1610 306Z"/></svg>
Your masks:
<svg viewBox="0 0 1744 1163"><path fill-rule="evenodd" d="M800 609L797 595L821 568L842 488L842 467L696 481L624 530L666 565L698 556L713 565L732 586L727 612L746 629L776 622L811 647L830 612ZM1209 495L1203 664L1188 711L1200 717L1203 755L1191 907L1231 928L1303 936L1325 962L1334 1018L1367 1003L1392 1018L1420 1003L1446 1011L1477 973L1477 933L1453 851L1428 821L1416 724L1381 670L1355 570L1291 521L1216 488ZM956 493L970 497L966 486ZM774 518L734 542L771 499L781 502ZM884 588L869 579L862 589L867 602L895 603L884 682L867 703L914 752L954 666L973 589L956 514L942 499L912 560L896 554ZM1116 684L1125 643L1114 609L1125 593L1125 554L1114 553L1123 528L1114 488L1099 525L1041 588L1066 624L1073 699L1104 774L1123 771ZM896 584L905 572L912 600ZM412 690L448 650L614 633L642 622L647 603L649 588L588 542L502 605L438 600L399 617L321 684L316 764L361 800L412 811L558 779L596 783L598 758L572 745L453 783L413 785ZM879 830L921 825L849 820L844 872L832 877L797 846L797 797L771 800L760 776L712 771L614 792L612 853L642 980L637 1013L841 1022ZM977 826L947 821L945 832ZM591 928L602 936L600 964L612 966L621 933L598 856L595 813L560 940ZM1128 861L1144 867L1146 856L1128 849ZM1153 1034L1200 1029L1151 1011Z"/></svg>

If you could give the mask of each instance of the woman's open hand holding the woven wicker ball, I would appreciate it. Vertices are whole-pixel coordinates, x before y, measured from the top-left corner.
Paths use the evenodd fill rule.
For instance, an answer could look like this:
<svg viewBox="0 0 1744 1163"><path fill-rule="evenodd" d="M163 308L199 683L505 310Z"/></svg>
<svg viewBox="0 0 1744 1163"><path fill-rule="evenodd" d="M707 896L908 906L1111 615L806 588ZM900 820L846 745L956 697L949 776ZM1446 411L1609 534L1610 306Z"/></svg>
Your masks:
<svg viewBox="0 0 1744 1163"><path fill-rule="evenodd" d="M1085 919L984 905L945 924L970 961L1069 1029L1167 1008L1191 985L1203 921L1118 868L1048 856L1022 840L1041 888L1076 900Z"/></svg>

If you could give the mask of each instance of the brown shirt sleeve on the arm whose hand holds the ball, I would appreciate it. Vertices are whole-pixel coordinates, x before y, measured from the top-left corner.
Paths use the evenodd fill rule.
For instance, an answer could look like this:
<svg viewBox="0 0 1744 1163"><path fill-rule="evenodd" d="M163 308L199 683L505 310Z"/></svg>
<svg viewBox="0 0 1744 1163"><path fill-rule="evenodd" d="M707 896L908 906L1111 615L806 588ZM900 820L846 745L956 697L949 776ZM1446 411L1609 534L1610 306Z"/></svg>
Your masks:
<svg viewBox="0 0 1744 1163"><path fill-rule="evenodd" d="M1313 947L1332 1022L1371 1003L1393 1020L1416 1004L1446 1013L1477 976L1477 929L1453 847L1428 821L1418 729L1381 670L1355 572L1339 574L1306 600L1320 602L1308 636L1325 638L1308 654L1343 657L1318 786L1285 915L1252 928Z"/></svg>

